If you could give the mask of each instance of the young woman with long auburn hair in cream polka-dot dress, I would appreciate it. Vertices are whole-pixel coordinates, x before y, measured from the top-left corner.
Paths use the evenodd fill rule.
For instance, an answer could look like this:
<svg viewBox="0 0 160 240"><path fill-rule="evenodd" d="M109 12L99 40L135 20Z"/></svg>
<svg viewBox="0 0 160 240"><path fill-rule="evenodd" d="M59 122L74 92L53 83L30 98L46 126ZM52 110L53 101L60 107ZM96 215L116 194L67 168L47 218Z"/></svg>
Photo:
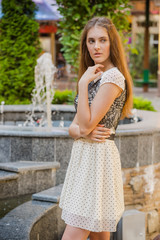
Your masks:
<svg viewBox="0 0 160 240"><path fill-rule="evenodd" d="M109 240L124 211L123 183L114 142L120 117L132 108L132 82L114 24L91 19L81 37L75 139L60 198L67 226L62 240Z"/></svg>

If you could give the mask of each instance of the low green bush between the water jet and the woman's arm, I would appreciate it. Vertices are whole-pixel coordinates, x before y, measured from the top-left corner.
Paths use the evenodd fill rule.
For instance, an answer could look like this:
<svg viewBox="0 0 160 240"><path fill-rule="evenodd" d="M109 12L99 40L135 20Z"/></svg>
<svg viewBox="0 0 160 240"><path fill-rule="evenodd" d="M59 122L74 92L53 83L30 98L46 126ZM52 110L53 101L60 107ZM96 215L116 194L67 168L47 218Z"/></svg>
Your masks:
<svg viewBox="0 0 160 240"><path fill-rule="evenodd" d="M63 103L73 104L75 94L76 94L75 91L68 90L68 89L64 91L57 90L55 91L52 103L53 104L63 104Z"/></svg>

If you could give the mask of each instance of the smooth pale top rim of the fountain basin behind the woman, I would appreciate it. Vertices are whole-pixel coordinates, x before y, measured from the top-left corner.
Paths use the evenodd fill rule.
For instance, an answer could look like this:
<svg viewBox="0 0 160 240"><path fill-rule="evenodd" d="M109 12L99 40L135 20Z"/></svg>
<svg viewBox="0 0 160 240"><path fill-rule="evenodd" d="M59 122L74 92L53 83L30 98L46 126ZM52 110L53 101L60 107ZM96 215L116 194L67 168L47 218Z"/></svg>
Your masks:
<svg viewBox="0 0 160 240"><path fill-rule="evenodd" d="M62 109L66 106L60 106ZM68 108L69 106L67 106ZM73 106L72 106L73 107ZM116 137L128 135L140 135L147 133L160 133L160 112L137 110L137 115L143 120L132 124L118 125ZM18 126L0 126L1 136L23 136L23 137L65 137L70 138L68 127L53 127L51 129L44 127L18 127Z"/></svg>

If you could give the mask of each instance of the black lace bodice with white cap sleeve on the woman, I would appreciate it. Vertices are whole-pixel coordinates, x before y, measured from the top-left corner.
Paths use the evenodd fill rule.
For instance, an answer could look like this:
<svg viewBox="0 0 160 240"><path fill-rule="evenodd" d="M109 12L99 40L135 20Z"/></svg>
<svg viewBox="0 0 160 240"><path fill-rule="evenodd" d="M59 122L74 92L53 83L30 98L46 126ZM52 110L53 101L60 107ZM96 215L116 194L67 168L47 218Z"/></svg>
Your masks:
<svg viewBox="0 0 160 240"><path fill-rule="evenodd" d="M113 133L115 133L118 122L121 117L123 106L126 101L126 80L123 74L118 70L117 67L107 70L101 75L100 78L95 79L94 81L89 83L88 102L90 106L92 104L92 101L95 95L98 92L99 87L109 82L118 85L120 88L122 88L123 91L121 95L114 100L110 109L108 110L106 115L102 118L102 120L99 123L104 124L105 127L112 129ZM75 97L74 104L75 104L75 109L77 111L78 94Z"/></svg>

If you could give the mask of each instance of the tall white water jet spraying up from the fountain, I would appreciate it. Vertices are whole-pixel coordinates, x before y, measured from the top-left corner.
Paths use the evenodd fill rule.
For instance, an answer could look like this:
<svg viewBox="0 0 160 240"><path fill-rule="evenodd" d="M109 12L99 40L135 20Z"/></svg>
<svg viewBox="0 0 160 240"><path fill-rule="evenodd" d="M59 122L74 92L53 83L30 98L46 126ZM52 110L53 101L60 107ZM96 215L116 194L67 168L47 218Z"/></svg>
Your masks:
<svg viewBox="0 0 160 240"><path fill-rule="evenodd" d="M38 119L40 127L52 127L51 103L54 96L54 74L57 68L52 63L50 53L44 53L37 60L35 67L35 88L32 92L32 111L27 115L24 126L35 126L35 112L42 112Z"/></svg>

